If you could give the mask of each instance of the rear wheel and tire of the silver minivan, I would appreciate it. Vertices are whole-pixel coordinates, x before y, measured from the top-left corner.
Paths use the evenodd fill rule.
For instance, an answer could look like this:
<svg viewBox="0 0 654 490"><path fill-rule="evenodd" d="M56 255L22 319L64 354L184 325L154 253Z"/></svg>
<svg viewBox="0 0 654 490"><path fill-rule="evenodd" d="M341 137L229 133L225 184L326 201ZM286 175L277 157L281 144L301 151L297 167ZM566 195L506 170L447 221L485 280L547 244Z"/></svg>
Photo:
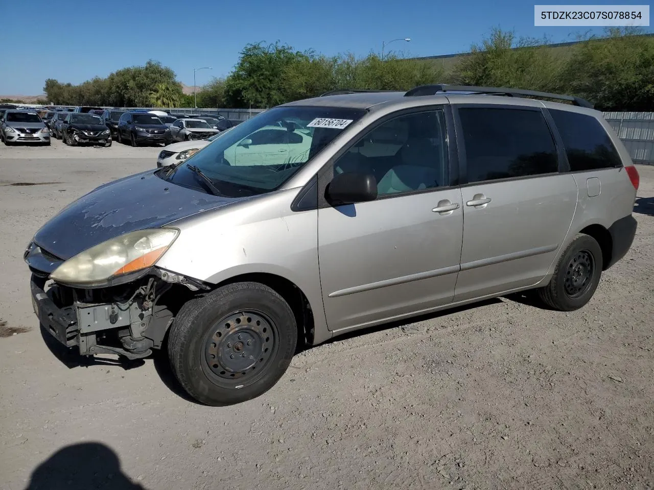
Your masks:
<svg viewBox="0 0 654 490"><path fill-rule="evenodd" d="M591 300L602 276L602 248L589 235L577 233L562 253L549 284L538 289L540 299L562 312L578 310Z"/></svg>

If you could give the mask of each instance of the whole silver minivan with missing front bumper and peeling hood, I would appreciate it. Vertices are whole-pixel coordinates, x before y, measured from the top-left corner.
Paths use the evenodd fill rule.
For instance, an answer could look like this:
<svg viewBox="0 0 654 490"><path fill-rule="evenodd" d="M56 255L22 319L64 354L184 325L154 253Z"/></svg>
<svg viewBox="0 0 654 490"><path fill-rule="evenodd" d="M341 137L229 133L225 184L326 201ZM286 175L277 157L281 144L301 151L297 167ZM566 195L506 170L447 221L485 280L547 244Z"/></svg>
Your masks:
<svg viewBox="0 0 654 490"><path fill-rule="evenodd" d="M527 289L581 308L632 243L637 188L582 99L336 93L100 186L24 257L48 335L82 355L165 348L192 397L232 404L305 342Z"/></svg>

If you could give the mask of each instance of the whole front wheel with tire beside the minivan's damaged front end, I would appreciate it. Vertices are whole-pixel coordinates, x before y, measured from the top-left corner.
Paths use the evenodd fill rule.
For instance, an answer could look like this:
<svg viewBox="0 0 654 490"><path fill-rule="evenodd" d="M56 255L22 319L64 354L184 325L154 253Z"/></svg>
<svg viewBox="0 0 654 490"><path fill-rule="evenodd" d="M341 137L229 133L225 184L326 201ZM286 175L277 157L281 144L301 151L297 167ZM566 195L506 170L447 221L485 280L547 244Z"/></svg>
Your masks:
<svg viewBox="0 0 654 490"><path fill-rule="evenodd" d="M191 397L224 406L273 387L297 342L286 301L263 284L237 282L182 306L170 329L168 357Z"/></svg>

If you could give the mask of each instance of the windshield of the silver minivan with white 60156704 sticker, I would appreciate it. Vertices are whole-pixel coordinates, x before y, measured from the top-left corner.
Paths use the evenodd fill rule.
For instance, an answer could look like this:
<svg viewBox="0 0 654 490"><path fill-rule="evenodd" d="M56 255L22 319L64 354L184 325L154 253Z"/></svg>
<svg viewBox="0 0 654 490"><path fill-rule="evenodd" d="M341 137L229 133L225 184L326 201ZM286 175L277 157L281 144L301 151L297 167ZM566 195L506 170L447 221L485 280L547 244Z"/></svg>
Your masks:
<svg viewBox="0 0 654 490"><path fill-rule="evenodd" d="M228 197L279 188L365 110L340 107L277 107L216 138L182 163L168 180L206 191L188 165L198 167ZM303 132L295 123L308 129Z"/></svg>

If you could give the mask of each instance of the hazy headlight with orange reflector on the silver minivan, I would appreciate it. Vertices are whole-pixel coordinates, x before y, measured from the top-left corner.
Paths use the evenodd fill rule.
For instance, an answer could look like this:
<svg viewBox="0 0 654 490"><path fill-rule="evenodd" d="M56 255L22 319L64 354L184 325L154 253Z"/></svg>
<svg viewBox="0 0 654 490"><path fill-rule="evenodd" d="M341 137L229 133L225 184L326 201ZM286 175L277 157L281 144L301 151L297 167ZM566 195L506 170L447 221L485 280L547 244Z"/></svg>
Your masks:
<svg viewBox="0 0 654 490"><path fill-rule="evenodd" d="M174 228L133 231L71 257L50 274L69 284L102 284L107 280L152 267L179 235Z"/></svg>

